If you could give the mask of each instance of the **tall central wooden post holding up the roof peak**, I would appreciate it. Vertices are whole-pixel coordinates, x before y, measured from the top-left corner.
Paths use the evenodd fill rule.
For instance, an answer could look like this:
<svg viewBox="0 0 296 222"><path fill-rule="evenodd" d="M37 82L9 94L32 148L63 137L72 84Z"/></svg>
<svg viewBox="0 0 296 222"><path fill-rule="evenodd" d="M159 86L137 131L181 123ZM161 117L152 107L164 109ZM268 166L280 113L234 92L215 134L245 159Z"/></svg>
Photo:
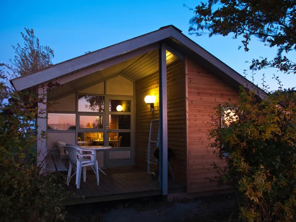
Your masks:
<svg viewBox="0 0 296 222"><path fill-rule="evenodd" d="M166 44L161 42L159 49L159 130L160 130L160 170L162 194L168 194L168 111Z"/></svg>

